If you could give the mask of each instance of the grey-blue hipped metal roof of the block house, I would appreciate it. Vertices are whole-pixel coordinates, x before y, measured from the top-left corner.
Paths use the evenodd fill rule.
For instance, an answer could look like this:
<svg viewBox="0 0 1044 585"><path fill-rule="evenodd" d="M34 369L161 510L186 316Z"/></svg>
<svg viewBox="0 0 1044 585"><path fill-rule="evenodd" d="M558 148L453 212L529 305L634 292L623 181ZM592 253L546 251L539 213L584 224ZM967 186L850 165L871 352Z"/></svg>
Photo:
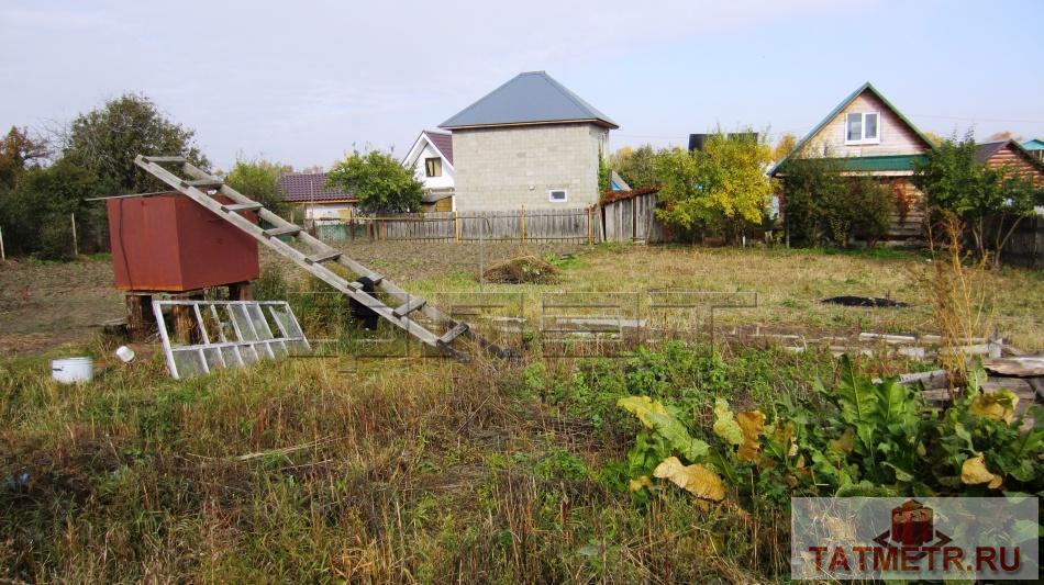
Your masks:
<svg viewBox="0 0 1044 585"><path fill-rule="evenodd" d="M507 83L468 105L438 125L441 128L537 124L542 122L592 122L619 127L579 95L544 71L519 74Z"/></svg>

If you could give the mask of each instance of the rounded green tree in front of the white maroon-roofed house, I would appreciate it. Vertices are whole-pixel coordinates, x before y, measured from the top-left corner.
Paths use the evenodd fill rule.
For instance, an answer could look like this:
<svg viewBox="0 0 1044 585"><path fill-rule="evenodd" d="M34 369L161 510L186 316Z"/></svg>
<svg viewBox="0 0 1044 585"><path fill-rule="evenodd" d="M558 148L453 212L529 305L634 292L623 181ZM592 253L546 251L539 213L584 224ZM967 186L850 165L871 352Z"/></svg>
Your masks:
<svg viewBox="0 0 1044 585"><path fill-rule="evenodd" d="M326 182L358 198L367 213L415 212L424 195L413 170L379 150L353 151L326 175Z"/></svg>

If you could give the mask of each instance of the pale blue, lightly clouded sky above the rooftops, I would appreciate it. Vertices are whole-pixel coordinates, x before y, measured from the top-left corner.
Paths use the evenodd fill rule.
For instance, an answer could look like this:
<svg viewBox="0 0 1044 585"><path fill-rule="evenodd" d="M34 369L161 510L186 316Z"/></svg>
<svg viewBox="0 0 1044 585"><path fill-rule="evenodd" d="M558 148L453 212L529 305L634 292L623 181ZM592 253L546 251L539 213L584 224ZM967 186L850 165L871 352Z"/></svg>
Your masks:
<svg viewBox="0 0 1044 585"><path fill-rule="evenodd" d="M216 168L404 156L521 71L612 117L610 148L809 132L871 81L922 131L1044 137L1044 1L0 0L0 128L144 92Z"/></svg>

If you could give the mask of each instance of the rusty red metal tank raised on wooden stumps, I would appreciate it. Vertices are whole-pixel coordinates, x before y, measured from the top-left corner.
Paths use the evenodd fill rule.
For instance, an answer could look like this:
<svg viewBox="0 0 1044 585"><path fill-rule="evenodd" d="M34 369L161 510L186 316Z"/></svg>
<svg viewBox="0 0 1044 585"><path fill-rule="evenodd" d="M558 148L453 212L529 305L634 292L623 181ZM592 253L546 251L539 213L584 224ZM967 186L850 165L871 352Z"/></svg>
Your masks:
<svg viewBox="0 0 1044 585"><path fill-rule="evenodd" d="M257 241L178 192L105 203L116 289L186 292L259 273Z"/></svg>

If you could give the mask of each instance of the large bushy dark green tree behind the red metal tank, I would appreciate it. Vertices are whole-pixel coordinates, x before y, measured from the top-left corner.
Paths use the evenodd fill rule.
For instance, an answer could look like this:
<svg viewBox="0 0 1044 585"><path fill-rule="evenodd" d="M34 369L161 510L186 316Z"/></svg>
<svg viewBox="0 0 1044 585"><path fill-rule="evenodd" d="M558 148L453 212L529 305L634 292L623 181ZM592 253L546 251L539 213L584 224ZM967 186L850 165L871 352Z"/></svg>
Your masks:
<svg viewBox="0 0 1044 585"><path fill-rule="evenodd" d="M209 168L195 136L195 131L170 121L146 95L126 93L77 116L64 131L63 157L100 180L111 179L124 193L143 192L157 183L134 165L137 155L184 156L197 167Z"/></svg>

